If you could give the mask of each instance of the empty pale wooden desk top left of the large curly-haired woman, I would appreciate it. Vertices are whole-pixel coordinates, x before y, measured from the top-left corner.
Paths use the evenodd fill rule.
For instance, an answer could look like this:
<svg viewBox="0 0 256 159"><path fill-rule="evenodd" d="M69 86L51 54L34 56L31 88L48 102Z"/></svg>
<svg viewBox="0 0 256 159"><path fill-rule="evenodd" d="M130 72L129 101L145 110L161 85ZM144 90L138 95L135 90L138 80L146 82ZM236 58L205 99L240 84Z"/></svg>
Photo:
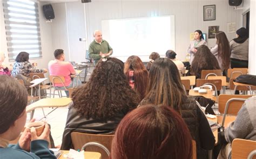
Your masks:
<svg viewBox="0 0 256 159"><path fill-rule="evenodd" d="M43 98L26 106L26 112L35 110L38 107L64 107L69 105L71 102L71 98Z"/></svg>

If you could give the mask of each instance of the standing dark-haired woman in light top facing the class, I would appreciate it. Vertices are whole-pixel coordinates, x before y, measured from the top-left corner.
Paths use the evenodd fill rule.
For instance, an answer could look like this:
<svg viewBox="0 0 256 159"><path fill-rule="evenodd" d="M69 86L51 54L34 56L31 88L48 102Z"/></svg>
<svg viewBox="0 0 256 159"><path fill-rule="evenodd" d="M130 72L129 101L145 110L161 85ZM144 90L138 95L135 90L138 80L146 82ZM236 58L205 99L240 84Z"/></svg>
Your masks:
<svg viewBox="0 0 256 159"><path fill-rule="evenodd" d="M207 46L207 42L204 39L202 31L196 30L194 31L194 40L190 42L190 46L187 49L187 52L190 54L190 64L192 64L194 54L197 53L197 48L201 45Z"/></svg>

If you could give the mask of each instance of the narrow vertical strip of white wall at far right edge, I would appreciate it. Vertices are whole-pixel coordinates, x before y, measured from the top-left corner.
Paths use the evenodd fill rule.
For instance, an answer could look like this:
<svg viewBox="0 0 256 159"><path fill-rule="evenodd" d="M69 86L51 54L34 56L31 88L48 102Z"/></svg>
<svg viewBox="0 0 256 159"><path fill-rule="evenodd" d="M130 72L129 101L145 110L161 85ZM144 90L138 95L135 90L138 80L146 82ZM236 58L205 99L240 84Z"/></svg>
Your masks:
<svg viewBox="0 0 256 159"><path fill-rule="evenodd" d="M249 74L256 75L256 2L250 4Z"/></svg>

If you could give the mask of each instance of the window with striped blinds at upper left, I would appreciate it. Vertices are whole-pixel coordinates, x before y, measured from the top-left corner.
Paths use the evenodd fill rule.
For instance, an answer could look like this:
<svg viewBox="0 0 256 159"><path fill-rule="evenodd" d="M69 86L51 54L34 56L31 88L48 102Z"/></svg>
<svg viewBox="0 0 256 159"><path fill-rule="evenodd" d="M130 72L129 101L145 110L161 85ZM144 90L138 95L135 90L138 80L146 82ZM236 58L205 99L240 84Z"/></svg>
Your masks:
<svg viewBox="0 0 256 159"><path fill-rule="evenodd" d="M30 59L42 57L38 4L25 0L3 0L9 61L20 52Z"/></svg>

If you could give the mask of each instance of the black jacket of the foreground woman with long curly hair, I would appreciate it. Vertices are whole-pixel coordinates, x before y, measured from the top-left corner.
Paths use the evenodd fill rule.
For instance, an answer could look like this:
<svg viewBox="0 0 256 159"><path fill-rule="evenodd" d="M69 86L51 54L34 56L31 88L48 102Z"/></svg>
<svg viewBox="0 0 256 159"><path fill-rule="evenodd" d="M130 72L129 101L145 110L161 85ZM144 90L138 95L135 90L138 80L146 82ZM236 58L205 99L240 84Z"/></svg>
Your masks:
<svg viewBox="0 0 256 159"><path fill-rule="evenodd" d="M120 112L116 117L107 121L99 119L89 119L80 115L77 109L71 104L66 119L66 126L62 138L62 146L60 149L69 150L73 148L71 141L71 132L89 133L89 134L113 134L119 122L126 113Z"/></svg>

